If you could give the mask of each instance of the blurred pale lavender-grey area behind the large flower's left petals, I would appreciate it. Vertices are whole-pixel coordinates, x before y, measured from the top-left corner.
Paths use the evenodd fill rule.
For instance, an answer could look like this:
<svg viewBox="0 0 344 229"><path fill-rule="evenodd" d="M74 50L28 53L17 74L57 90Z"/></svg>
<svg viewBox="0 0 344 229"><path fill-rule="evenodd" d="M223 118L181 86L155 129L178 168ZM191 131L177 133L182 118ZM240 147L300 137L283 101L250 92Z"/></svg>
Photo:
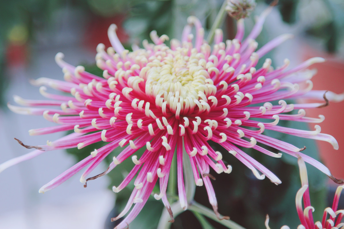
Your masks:
<svg viewBox="0 0 344 229"><path fill-rule="evenodd" d="M25 99L45 99L29 80L40 77L63 80L62 70L54 60L59 51L75 66L95 62L96 47L89 51L82 45L85 27L82 20L76 12L65 10L56 16L56 31L37 35L29 64L9 68L7 101L16 105L14 94ZM53 89L48 92L55 93ZM0 163L31 152L14 138L28 145L45 145L47 140L62 137L64 133L29 136L29 129L53 125L42 116L19 115L7 108L0 110ZM64 150L48 151L0 173L0 229L103 229L115 203L114 193L107 189L106 176L88 182L88 187L84 188L79 181L83 172L80 171L57 188L44 194L38 192L41 186L75 163ZM104 172L106 167L100 164L91 175Z"/></svg>

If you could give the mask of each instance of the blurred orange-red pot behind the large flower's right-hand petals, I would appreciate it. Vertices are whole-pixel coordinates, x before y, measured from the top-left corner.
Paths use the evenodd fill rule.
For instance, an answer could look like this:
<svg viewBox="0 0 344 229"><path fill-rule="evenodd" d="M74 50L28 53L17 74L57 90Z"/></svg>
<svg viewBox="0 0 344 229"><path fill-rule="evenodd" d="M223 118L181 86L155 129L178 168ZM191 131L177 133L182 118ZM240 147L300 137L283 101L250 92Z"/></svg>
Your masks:
<svg viewBox="0 0 344 229"><path fill-rule="evenodd" d="M330 90L335 93L344 92L344 59L330 55L320 50L316 50L305 45L303 48L303 59L311 57L323 57L325 62L314 64L310 68L315 68L318 73L312 78L313 90ZM320 157L327 168L338 179L344 178L344 103L330 103L319 109L306 109L307 116L317 117L319 114L325 116L325 121L320 124L321 133L332 135L339 145L339 150L335 150L328 142L317 141ZM310 125L314 128L314 124Z"/></svg>

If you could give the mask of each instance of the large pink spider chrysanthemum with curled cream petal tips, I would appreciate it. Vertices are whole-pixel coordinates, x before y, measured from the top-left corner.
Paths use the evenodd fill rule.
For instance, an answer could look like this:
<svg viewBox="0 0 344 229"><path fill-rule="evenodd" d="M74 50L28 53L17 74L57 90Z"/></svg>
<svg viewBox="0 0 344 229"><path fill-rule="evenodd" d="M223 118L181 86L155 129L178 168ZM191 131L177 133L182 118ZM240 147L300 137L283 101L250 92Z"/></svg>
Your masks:
<svg viewBox="0 0 344 229"><path fill-rule="evenodd" d="M8 107L20 114L43 115L45 119L60 124L29 130L30 135L73 129L75 133L55 141L47 141L46 145L41 146L24 145L18 140L26 148L36 150L4 162L0 165L0 171L45 151L73 147L81 149L95 142L108 142L106 146L90 152L87 158L44 185L40 192L55 188L88 166L80 178L81 182L86 183L87 180L109 173L116 165L131 157L133 169L113 190L120 192L137 175L135 188L127 206L115 219L128 213L133 204L135 206L117 228L127 227L139 214L158 179L160 193L154 197L162 199L166 208L170 209L166 187L174 154L182 208L186 209L188 205L183 178L185 161L182 156L188 154L193 174L187 175L194 176L196 185L205 185L209 202L219 216L214 189L208 176L209 168L217 173L230 173L232 168L222 160L220 152L209 146L208 141L223 146L252 170L258 179L267 176L271 182L281 183L275 174L239 147L253 148L276 158L281 157L281 153L271 152L264 146L294 157L300 156L333 178L324 165L300 152L304 149L303 146L294 146L263 135L265 129L270 129L328 141L335 149L338 148L336 140L320 133L318 125L315 125L314 131L278 126L279 120L308 123L323 121L323 116L305 117L303 108L324 105L325 91L311 90L310 79L315 72L305 70L311 64L324 59L312 58L289 70L288 60L282 67L274 70L271 59L266 59L262 67L256 68L259 58L291 37L279 36L255 51L258 44L254 39L260 33L270 10L271 7L260 16L245 39L243 20L238 21L238 32L233 40L223 42L223 33L217 30L213 47L204 41L201 22L193 16L188 19L189 24L184 28L181 42L172 39L170 47L164 44L169 39L166 35L159 37L153 31L151 39L154 44L144 41L143 49L133 47L133 51L125 50L116 36L116 25L111 25L108 35L112 47L107 51L103 44L97 47L97 66L104 70L104 78L86 72L82 66L67 64L62 59L63 54L58 53L55 59L64 72L64 81L39 78L32 82L40 85L41 94L51 100L26 100L15 96L14 101L25 107L11 104ZM192 25L196 30L194 41ZM72 96L50 94L46 87ZM324 98L327 103L341 101L343 96L327 92ZM312 98L323 102L287 104L284 101L293 98ZM278 101L278 104L273 105L269 101ZM57 108L43 108L44 106ZM298 110L297 114L290 114L293 110ZM260 121L256 118L260 118ZM257 145L257 142L260 144ZM111 155L113 162L108 169L87 179L93 169L117 147L123 147L123 150L118 155ZM135 152L142 147L145 149L144 153L138 158Z"/></svg>

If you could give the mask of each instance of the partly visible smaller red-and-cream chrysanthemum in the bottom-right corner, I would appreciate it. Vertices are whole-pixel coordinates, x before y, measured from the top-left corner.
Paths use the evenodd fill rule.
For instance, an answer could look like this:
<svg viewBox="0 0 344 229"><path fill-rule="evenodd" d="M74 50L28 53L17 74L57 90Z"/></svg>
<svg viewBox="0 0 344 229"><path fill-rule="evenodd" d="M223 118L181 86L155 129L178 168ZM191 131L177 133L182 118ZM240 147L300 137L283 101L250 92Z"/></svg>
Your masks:
<svg viewBox="0 0 344 229"><path fill-rule="evenodd" d="M337 187L332 207L325 208L322 220L314 222L312 212L315 209L311 206L311 201L309 197L307 169L301 157L298 160L298 164L300 168L300 178L302 186L297 192L295 198L296 210L301 221L301 224L298 226L298 229L342 228L344 226L344 223L342 222L344 210L337 210L337 208L344 185ZM304 208L302 207L302 199ZM270 229L268 224L269 216L266 216L265 226L267 229ZM289 227L284 225L281 227L281 229L289 229Z"/></svg>

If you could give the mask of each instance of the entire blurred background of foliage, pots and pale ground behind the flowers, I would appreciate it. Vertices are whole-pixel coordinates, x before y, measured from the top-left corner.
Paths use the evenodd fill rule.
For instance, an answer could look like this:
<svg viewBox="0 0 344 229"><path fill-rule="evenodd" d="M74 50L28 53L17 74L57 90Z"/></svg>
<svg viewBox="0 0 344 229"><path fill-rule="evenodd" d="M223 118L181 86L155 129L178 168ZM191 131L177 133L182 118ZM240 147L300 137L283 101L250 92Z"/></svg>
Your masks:
<svg viewBox="0 0 344 229"><path fill-rule="evenodd" d="M266 9L270 2L257 2L255 11L245 20L246 34L254 25L255 16ZM14 137L30 145L42 145L46 140L54 140L64 134L29 136L29 129L49 126L51 123L42 117L14 114L6 106L7 102L14 104L14 94L28 99L42 98L38 88L30 85L30 79L62 79L63 73L54 62L57 52L63 52L70 64L85 65L89 71L99 74L94 67L96 46L98 43L110 46L107 28L111 23L118 25L119 39L130 49L133 43L140 44L143 39L150 41L151 30L157 30L159 35L180 38L189 15L197 16L207 33L222 3L222 0L1 0L0 162L29 152ZM225 38L234 38L235 21L227 17L223 30ZM292 33L295 38L265 57L272 59L274 67L281 66L284 58L290 59L291 66L295 66L310 57L325 57L325 63L312 66L318 69L318 74L312 79L314 89L336 93L344 91L342 0L280 0L257 38L259 47L283 33ZM282 135L275 137L297 146L307 146L304 153L314 158L319 154L334 176L343 179L344 103L331 103L328 107L306 112L310 117L325 115L326 119L321 124L322 133L333 135L340 150L333 150L327 142ZM313 129L313 126L300 123L285 125ZM214 147L218 148L216 145ZM129 187L128 192L115 196L108 189L121 179L118 171L89 182L87 188L79 182L81 173L78 173L58 188L45 194L38 193L41 186L88 154L89 151L82 150L46 152L3 171L0 174L0 228L114 227L115 224L109 223L110 218L121 210L120 206L126 203L128 192L131 192ZM220 213L229 215L233 221L247 228L265 228L266 214L270 215L271 228L280 228L284 224L296 228L300 223L294 206L295 194L300 188L297 160L287 155L278 161L262 155L255 155L255 158L279 176L282 184L276 186L267 179L256 180L243 165L224 156L232 164L233 172L217 175L217 180L213 182ZM101 164L93 174L103 172L106 167L107 163ZM320 216L327 207L323 197L329 193L332 199L333 193L329 187L336 185L318 170L312 167L308 169L312 206L316 209L315 215ZM122 170L125 172L127 168ZM209 206L204 187L197 187L195 198ZM160 202L152 198L146 207L150 211L142 211L130 227L156 228L162 207ZM215 228L223 228L211 220L209 222ZM191 225L193 228L202 228L192 212L186 211L176 218L172 228L190 228Z"/></svg>

